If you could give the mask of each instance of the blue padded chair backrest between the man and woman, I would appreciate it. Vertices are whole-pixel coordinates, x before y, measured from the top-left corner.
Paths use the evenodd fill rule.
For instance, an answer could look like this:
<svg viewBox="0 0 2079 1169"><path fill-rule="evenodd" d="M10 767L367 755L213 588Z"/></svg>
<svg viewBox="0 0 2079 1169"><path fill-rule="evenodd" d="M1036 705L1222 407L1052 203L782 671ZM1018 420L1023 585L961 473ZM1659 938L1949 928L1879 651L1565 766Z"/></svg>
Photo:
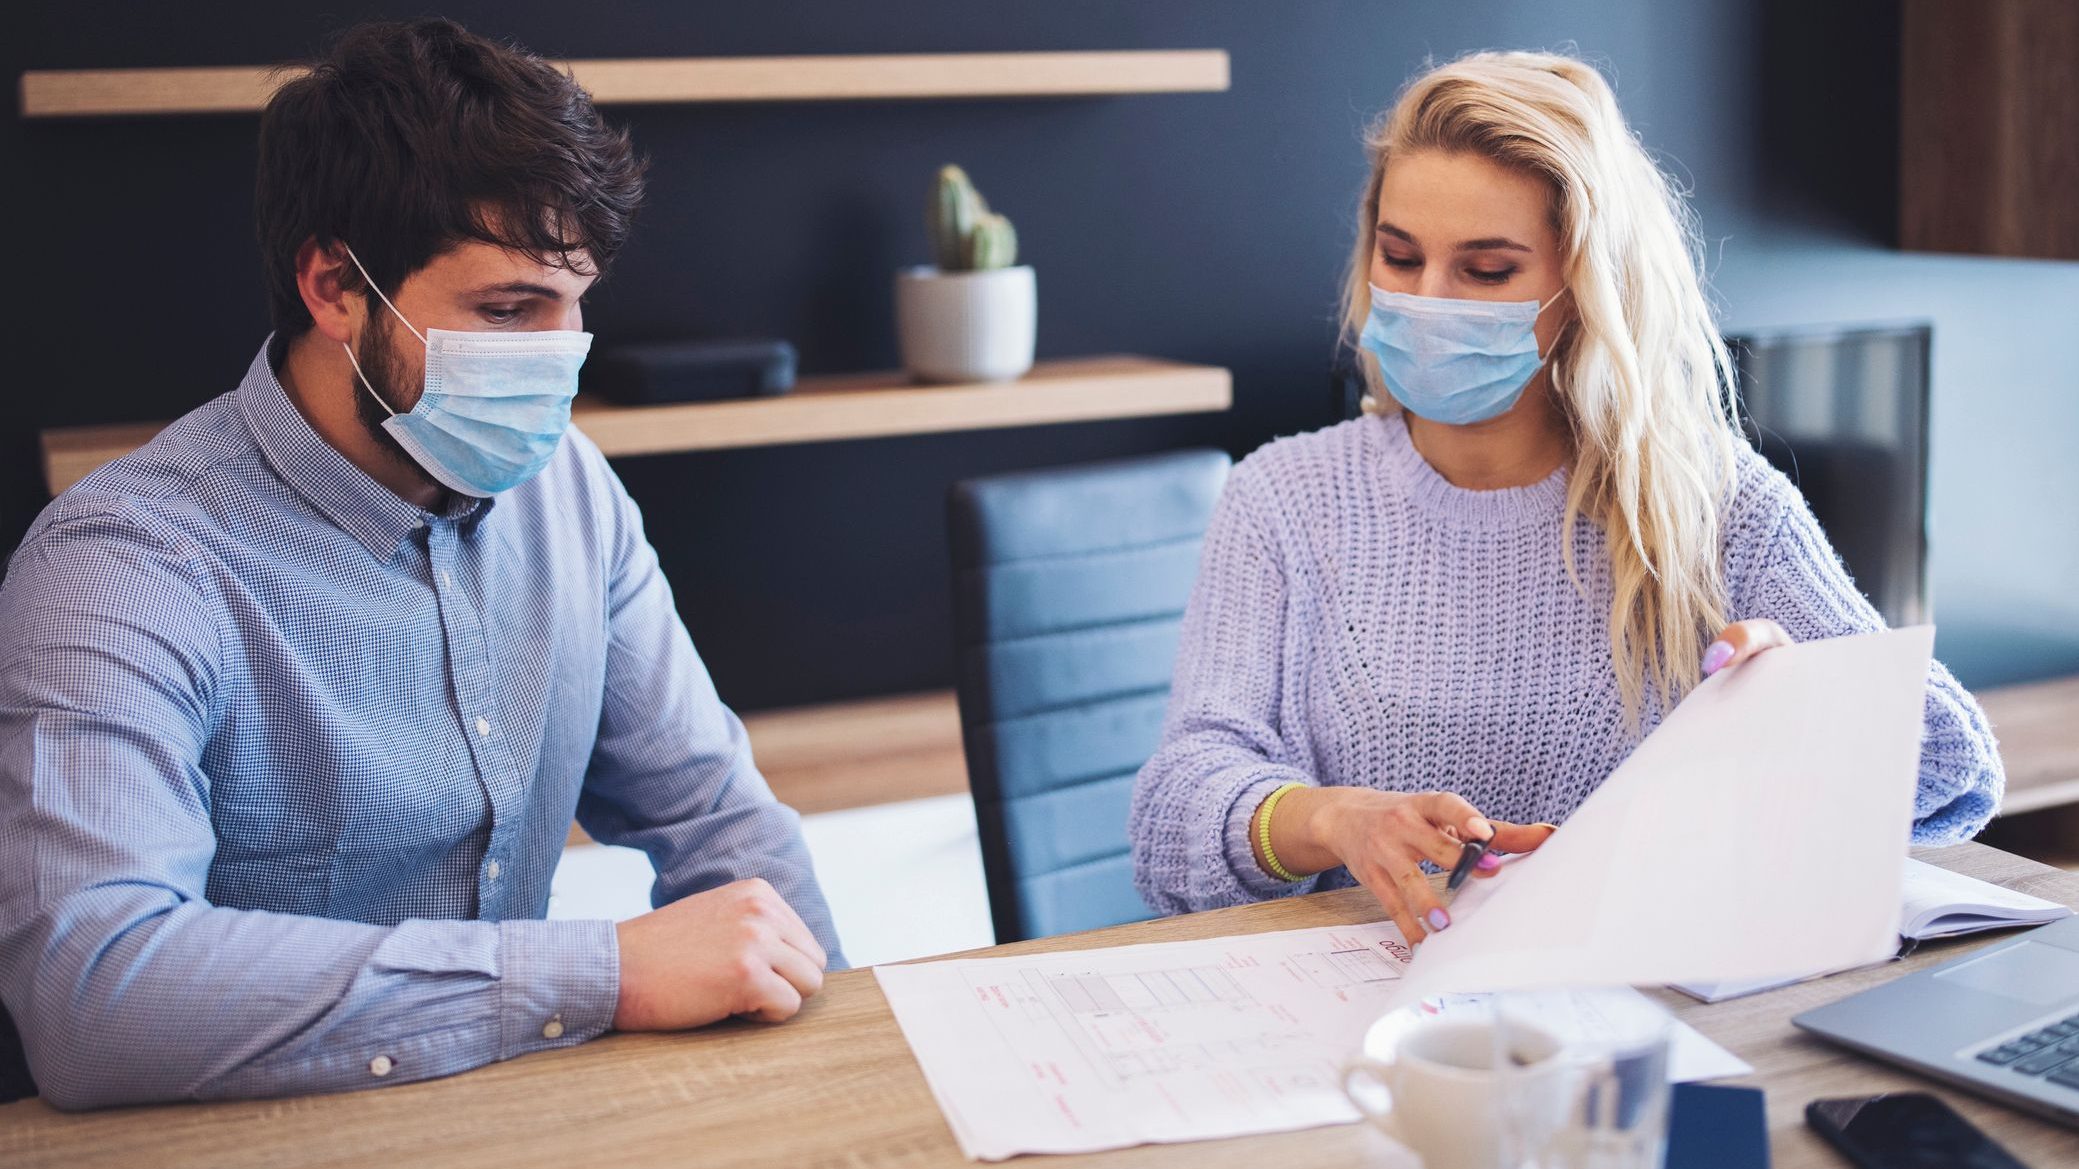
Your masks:
<svg viewBox="0 0 2079 1169"><path fill-rule="evenodd" d="M1227 466L1170 451L952 489L960 738L998 942L1152 917L1127 805Z"/></svg>

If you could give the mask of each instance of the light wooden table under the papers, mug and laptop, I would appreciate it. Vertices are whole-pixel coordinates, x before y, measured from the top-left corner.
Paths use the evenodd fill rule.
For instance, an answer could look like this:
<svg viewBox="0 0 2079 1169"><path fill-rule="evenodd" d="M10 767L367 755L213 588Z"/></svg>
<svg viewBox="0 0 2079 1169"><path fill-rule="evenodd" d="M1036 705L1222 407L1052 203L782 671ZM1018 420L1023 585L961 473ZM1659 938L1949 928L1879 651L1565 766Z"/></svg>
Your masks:
<svg viewBox="0 0 2079 1169"><path fill-rule="evenodd" d="M2079 876L1981 845L1921 859L2079 907ZM1195 913L981 951L1042 953L1214 938L1378 919L1360 890ZM1805 1102L1929 1084L1807 1038L1790 1015L1990 938L1931 944L1904 963L1840 973L1705 1007L1655 992L1676 1015L1755 1065L1769 1090L1775 1169L1838 1161L1805 1129ZM2079 1165L2079 1134L1933 1088L2035 1169ZM1222 1142L1143 1146L1089 1157L1021 1159L1035 1169L1405 1163L1368 1125ZM678 1036L609 1036L578 1048L341 1096L170 1105L62 1115L42 1100L0 1107L0 1165L576 1165L950 1167L967 1165L896 1030L871 971L834 976L790 1023L726 1023Z"/></svg>

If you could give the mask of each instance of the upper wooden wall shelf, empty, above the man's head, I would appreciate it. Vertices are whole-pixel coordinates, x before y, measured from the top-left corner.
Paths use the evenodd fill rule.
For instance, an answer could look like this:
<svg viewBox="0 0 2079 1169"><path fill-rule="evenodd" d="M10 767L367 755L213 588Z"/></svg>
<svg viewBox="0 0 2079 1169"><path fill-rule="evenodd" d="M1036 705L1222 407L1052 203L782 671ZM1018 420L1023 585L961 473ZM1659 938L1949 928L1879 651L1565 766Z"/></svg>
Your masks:
<svg viewBox="0 0 2079 1169"><path fill-rule="evenodd" d="M597 104L1085 98L1227 89L1227 50L561 60ZM258 112L297 67L31 69L21 116Z"/></svg>

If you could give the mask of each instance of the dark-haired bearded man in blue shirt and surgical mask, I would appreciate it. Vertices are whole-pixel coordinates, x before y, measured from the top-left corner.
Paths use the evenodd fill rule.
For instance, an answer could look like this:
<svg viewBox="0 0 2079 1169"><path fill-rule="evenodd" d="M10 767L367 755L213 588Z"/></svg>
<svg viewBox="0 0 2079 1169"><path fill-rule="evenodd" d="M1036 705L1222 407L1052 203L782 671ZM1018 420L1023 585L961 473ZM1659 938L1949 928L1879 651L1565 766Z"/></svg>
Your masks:
<svg viewBox="0 0 2079 1169"><path fill-rule="evenodd" d="M568 428L640 196L576 83L447 21L358 27L268 104L274 335L0 587L0 1001L52 1105L780 1021L842 961ZM543 919L572 813L659 909Z"/></svg>

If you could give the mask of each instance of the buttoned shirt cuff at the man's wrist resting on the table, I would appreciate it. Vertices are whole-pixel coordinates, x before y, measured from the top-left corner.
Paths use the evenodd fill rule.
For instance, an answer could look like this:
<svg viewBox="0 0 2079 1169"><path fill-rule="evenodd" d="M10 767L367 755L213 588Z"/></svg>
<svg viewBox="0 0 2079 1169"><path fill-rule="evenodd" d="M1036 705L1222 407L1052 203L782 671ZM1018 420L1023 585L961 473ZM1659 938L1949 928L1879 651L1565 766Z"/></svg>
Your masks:
<svg viewBox="0 0 2079 1169"><path fill-rule="evenodd" d="M613 921L499 921L499 1059L576 1046L613 1025Z"/></svg>

